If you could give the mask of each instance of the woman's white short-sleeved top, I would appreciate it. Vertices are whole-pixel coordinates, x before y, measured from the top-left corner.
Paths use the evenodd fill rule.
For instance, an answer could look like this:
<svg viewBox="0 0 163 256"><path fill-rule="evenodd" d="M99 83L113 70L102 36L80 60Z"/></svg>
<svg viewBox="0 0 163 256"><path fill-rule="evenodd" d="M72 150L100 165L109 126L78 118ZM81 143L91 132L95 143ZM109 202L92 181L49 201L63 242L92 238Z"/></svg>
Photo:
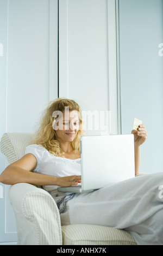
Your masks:
<svg viewBox="0 0 163 256"><path fill-rule="evenodd" d="M81 158L68 159L57 157L49 153L41 145L29 145L25 154L31 153L37 159L37 166L34 172L55 177L65 177L71 175L81 175ZM58 186L43 186L47 191L56 190Z"/></svg>

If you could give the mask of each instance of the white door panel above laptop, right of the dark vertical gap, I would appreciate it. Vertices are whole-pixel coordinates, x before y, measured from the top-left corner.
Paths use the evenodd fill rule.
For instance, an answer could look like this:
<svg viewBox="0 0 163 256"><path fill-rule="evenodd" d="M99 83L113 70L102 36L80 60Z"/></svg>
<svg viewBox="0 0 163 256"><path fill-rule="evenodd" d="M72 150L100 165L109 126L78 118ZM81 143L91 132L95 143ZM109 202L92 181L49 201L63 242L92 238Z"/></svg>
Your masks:
<svg viewBox="0 0 163 256"><path fill-rule="evenodd" d="M115 134L116 57L115 0L59 1L59 96L76 100L83 111L111 111Z"/></svg>

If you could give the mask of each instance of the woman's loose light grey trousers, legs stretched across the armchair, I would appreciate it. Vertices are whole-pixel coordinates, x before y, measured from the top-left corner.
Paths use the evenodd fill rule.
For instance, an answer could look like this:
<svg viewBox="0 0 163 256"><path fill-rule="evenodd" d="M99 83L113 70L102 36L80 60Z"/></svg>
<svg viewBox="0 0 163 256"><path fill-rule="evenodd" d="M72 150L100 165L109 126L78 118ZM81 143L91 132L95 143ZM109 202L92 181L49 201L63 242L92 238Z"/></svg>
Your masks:
<svg viewBox="0 0 163 256"><path fill-rule="evenodd" d="M163 172L66 195L64 200L62 225L104 225L129 231L137 245L163 245Z"/></svg>

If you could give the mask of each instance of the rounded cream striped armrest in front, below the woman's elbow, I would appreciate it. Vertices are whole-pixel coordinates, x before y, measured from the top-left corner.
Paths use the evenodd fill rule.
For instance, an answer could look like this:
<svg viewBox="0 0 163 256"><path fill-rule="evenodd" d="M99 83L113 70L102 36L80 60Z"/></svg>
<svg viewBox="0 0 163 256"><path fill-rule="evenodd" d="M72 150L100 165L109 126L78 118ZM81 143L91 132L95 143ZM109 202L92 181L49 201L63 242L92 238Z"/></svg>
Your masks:
<svg viewBox="0 0 163 256"><path fill-rule="evenodd" d="M27 183L9 189L16 217L18 245L61 245L60 215L51 195Z"/></svg>

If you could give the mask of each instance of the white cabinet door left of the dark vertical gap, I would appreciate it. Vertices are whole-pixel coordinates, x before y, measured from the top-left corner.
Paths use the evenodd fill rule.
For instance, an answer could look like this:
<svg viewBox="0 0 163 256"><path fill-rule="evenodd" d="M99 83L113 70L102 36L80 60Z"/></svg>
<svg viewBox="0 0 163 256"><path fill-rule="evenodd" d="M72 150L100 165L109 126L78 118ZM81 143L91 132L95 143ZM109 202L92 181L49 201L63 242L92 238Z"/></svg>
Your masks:
<svg viewBox="0 0 163 256"><path fill-rule="evenodd" d="M58 1L0 0L0 135L34 132L41 111L58 97ZM0 172L8 165L0 153ZM17 240L9 186L1 184L0 244Z"/></svg>

